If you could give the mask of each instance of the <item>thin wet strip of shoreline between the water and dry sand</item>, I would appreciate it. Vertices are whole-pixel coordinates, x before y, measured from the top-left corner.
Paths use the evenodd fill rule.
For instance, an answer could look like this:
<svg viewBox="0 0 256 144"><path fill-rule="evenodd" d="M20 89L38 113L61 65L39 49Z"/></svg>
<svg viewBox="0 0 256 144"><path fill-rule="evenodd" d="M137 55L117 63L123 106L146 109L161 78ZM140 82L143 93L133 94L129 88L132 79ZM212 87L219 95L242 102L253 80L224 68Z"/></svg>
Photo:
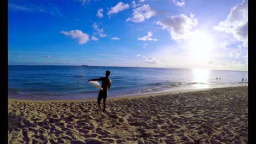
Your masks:
<svg viewBox="0 0 256 144"><path fill-rule="evenodd" d="M118 97L107 97L108 100L121 100L121 99L133 99L133 98L142 98L142 97L157 97L160 95L167 95L167 94L177 94L177 93L189 93L189 92L198 92L198 91L207 91L210 89L216 88L235 88L235 87L248 87L248 84L245 86L223 86L223 87L209 87L209 88L190 88L190 89L178 89L173 91L167 92L152 92L152 93L145 93L145 94L136 94L136 95L125 95L125 96L118 96ZM39 103L52 103L52 102L77 102L77 101L97 101L97 97L95 98L88 98L88 99L63 99L63 100L34 100L34 99L15 99L15 98L8 98L8 101L20 101L20 102L39 102Z"/></svg>

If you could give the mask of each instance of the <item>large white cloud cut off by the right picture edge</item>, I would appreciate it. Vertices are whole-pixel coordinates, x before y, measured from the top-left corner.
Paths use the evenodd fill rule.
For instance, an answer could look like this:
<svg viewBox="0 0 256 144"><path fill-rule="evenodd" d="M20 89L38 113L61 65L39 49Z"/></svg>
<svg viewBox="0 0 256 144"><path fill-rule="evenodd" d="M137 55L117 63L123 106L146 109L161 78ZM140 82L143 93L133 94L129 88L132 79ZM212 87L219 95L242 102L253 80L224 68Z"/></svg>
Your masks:
<svg viewBox="0 0 256 144"><path fill-rule="evenodd" d="M232 33L234 37L248 46L248 1L242 1L233 7L225 21L213 27L216 31Z"/></svg>

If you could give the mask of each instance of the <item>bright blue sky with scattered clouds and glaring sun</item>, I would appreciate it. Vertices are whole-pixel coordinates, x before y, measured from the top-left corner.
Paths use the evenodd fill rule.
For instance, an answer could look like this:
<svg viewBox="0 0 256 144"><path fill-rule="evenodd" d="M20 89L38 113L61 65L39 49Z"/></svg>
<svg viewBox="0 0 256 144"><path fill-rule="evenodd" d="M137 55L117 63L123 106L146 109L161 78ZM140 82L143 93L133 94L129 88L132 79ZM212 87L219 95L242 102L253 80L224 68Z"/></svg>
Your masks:
<svg viewBox="0 0 256 144"><path fill-rule="evenodd" d="M248 1L8 1L9 65L248 71Z"/></svg>

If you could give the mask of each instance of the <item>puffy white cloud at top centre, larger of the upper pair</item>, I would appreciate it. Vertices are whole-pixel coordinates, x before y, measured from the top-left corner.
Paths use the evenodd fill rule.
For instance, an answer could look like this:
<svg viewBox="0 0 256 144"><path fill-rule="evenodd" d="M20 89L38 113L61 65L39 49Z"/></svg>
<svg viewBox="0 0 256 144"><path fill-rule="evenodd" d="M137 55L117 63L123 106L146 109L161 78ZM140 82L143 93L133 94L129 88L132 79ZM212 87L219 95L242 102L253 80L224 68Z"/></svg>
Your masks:
<svg viewBox="0 0 256 144"><path fill-rule="evenodd" d="M155 14L155 11L148 4L144 4L141 7L133 9L132 17L129 17L126 21L143 22Z"/></svg>

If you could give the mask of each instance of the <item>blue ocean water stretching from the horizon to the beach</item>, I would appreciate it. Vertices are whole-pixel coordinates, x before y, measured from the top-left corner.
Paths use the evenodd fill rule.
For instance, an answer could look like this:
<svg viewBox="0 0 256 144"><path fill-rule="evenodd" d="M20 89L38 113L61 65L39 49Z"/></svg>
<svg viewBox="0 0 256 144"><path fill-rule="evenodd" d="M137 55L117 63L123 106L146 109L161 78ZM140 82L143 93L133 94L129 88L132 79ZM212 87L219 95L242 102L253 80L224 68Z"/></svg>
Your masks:
<svg viewBox="0 0 256 144"><path fill-rule="evenodd" d="M108 97L168 92L177 89L248 85L247 71L9 65L8 97L33 100L96 99L98 89L87 81L104 77L106 70L110 70L109 78L112 80ZM243 82L242 78L244 78Z"/></svg>

